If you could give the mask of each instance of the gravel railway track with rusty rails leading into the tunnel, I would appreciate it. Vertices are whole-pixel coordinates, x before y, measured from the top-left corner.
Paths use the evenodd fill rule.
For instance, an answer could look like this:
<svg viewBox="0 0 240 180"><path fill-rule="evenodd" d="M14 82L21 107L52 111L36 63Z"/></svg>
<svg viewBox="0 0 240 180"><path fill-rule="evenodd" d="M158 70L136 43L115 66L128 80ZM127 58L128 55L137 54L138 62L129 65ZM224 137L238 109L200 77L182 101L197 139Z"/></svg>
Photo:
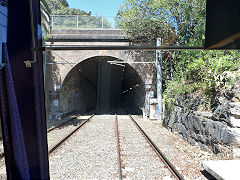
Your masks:
<svg viewBox="0 0 240 180"><path fill-rule="evenodd" d="M123 114L123 113L119 113L119 114ZM163 177L170 177L171 179L181 179L181 180L184 179L181 176L181 174L179 174L179 172L176 170L176 168L163 155L163 153L158 149L158 147L153 143L153 141L142 130L142 128L137 124L137 122L134 120L134 118L131 115L118 116L116 114L115 116L111 116L111 115L104 115L104 117L96 116L94 121L91 121L91 123L85 126L86 128L84 128L83 131L79 132L80 134L76 133L79 129L81 129L81 127L83 127L93 117L94 115L92 115L90 118L86 119L85 121L81 122L79 125L74 127L74 129L73 127L71 127L70 128L71 132L68 131L67 135L65 135L64 137L61 136L63 138L61 138L61 140L58 143L56 143L54 146L51 147L51 149L48 152L49 158L51 157L50 159L56 159L55 164L57 164L58 166L56 169L66 170L66 168L68 168L69 171L72 172L71 170L72 168L68 166L70 164L74 164L74 162L72 161L76 160L77 164L78 163L82 164L79 167L79 170L76 171L76 173L79 174L79 172L86 171L84 170L84 168L87 169L87 167L88 168L92 167L92 170L91 168L88 170L90 174L95 173L95 175L90 176L91 178L101 179L100 176L105 178L109 175L109 172L111 172L112 174L110 177L114 179L118 177L118 179L120 180L124 178L163 179ZM53 132L54 129L61 127L64 124L67 124L73 119L70 119L69 121L57 127L48 129L48 133ZM107 125L107 127L103 127L105 125ZM96 128L96 130L94 130L94 128ZM55 131L54 132L60 133L61 129L58 129L58 130L59 132L55 132ZM94 130L95 132L93 132L92 130ZM99 130L101 131L99 132ZM103 132L106 134L104 135ZM75 133L76 133L76 137L74 136L74 138L71 138L71 141L68 141L69 138ZM80 140L79 138L81 138L82 140ZM88 139L88 138L93 138L95 139L96 142L93 143L93 139ZM96 140L97 138L98 140ZM100 142L100 139L101 139L101 142ZM105 143L104 141L108 141L108 142L104 144ZM65 146L61 146L65 142L68 142L68 143ZM84 145L82 144L82 142L86 144ZM73 143L74 145L73 147L71 147L70 145L71 143ZM92 145L92 146L87 147L89 145ZM56 152L56 150L59 148L61 149L64 148L64 149ZM86 151L84 151L84 149ZM111 151L109 151L110 149ZM69 153L70 151L72 151L71 153L77 153L77 154L71 155L71 153ZM95 152L95 151L98 151L98 152ZM57 154L54 152L56 152ZM68 152L68 153L65 154L64 152ZM100 153L103 153L103 154L105 153L105 155L103 155L105 158L102 158L100 160L101 162L99 163L96 159L99 158ZM89 154L91 157L86 154ZM86 161L82 161L80 160L81 158L78 159L79 155L82 155L83 157L87 156L88 158L86 158L87 159ZM63 160L64 158L67 161L66 163L61 162L61 161L65 161ZM108 162L104 160L106 158L108 159ZM90 159L93 159L93 160L91 161ZM51 160L51 162L52 162L51 164L54 164L53 160ZM62 163L62 165L59 165L60 162ZM91 163L90 165L86 164L89 162L93 164L92 165ZM117 163L118 163L118 166L116 166ZM66 164L68 165L66 166ZM113 167L114 164L116 167ZM76 165L76 162L75 162L75 165ZM74 168L76 168L76 166L74 166ZM110 169L106 170L108 172L105 172L105 174L102 173L99 176L99 174L101 173L101 168L104 168L104 169L110 168ZM147 174L148 172L149 174ZM59 172L57 171L54 174L59 174ZM61 177L65 177L66 174L69 175L69 172L68 173L64 172ZM89 173L87 173L87 175L85 176L79 175L78 177L80 179L82 177L90 178Z"/></svg>

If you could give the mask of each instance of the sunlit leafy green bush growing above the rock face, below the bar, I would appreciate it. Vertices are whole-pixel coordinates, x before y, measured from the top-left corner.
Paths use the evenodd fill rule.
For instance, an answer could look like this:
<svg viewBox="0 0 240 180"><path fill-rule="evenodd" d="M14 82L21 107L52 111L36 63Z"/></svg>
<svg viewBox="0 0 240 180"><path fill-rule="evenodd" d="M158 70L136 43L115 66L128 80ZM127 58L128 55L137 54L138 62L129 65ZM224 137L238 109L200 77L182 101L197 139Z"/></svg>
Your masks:
<svg viewBox="0 0 240 180"><path fill-rule="evenodd" d="M181 58L181 59L180 59ZM164 100L168 108L184 94L201 96L205 99L205 108L211 108L211 99L219 92L233 85L231 72L240 65L238 51L201 51L175 54L176 72L174 79L168 81Z"/></svg>

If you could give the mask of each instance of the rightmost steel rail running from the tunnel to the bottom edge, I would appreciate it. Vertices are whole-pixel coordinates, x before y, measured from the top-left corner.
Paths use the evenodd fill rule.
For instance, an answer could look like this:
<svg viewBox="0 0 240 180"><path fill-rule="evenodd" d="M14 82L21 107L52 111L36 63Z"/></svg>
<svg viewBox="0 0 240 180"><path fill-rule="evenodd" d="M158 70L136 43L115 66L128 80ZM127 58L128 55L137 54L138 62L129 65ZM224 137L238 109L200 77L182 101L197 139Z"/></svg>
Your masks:
<svg viewBox="0 0 240 180"><path fill-rule="evenodd" d="M160 159L165 162L169 170L172 172L174 176L176 176L179 180L184 180L183 176L178 172L178 170L175 168L175 166L167 159L167 157L160 151L160 149L155 145L155 143L150 139L150 137L144 132L144 130L139 126L139 124L133 119L133 117L129 114L130 119L132 122L136 125L138 130L141 132L141 134L144 136L144 138L148 141L150 146L154 149L154 151L157 153L157 155L160 157Z"/></svg>

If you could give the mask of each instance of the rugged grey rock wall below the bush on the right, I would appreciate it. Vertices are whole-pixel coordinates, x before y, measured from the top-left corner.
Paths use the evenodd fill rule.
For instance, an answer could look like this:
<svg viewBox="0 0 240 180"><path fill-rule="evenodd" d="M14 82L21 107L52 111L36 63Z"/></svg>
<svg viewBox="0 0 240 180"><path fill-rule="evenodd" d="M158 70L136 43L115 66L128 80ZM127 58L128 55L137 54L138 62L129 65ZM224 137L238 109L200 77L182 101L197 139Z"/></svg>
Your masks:
<svg viewBox="0 0 240 180"><path fill-rule="evenodd" d="M164 125L206 151L240 156L240 102L225 101L212 112L198 111L202 102L199 98L179 98L166 112Z"/></svg>

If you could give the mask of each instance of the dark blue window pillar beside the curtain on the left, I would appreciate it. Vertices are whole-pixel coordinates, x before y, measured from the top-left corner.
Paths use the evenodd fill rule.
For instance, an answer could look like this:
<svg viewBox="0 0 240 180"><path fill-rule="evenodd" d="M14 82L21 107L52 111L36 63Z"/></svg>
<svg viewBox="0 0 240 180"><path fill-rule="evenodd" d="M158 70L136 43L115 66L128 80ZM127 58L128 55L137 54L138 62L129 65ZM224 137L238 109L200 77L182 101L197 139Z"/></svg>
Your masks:
<svg viewBox="0 0 240 180"><path fill-rule="evenodd" d="M42 53L37 52L37 61L32 67L26 67L24 63L33 60L29 2L29 0L8 0L7 49L26 150L25 157L18 154L18 158L22 157L22 160L28 163L26 173L29 173L30 179L49 179ZM42 46L40 2L32 0L32 3L34 36L38 48ZM4 81L4 83L8 82ZM7 98L5 100L9 101ZM5 124L11 131L13 125L11 121ZM14 153L19 147L12 142L14 136L16 134L10 132L9 137L4 137L5 142L6 140L10 142L4 147L7 152L7 173L8 178L21 179L16 173L20 167L16 163Z"/></svg>

